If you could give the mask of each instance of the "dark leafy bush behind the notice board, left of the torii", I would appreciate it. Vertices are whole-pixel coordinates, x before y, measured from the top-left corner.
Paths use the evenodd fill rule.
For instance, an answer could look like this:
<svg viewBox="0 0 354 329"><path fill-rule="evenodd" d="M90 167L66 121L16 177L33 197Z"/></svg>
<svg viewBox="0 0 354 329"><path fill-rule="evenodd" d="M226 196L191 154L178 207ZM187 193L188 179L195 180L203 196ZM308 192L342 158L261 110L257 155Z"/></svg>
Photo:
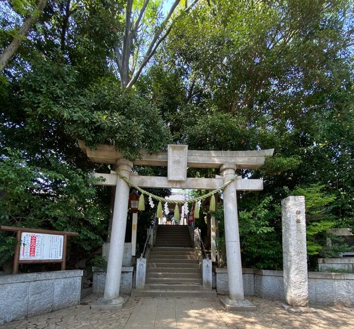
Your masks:
<svg viewBox="0 0 354 329"><path fill-rule="evenodd" d="M80 169L48 158L49 167L29 165L19 151L6 150L0 158L0 218L3 225L78 232L69 239L91 251L102 244L107 209L97 205L97 190L92 179ZM1 248L8 260L13 237Z"/></svg>

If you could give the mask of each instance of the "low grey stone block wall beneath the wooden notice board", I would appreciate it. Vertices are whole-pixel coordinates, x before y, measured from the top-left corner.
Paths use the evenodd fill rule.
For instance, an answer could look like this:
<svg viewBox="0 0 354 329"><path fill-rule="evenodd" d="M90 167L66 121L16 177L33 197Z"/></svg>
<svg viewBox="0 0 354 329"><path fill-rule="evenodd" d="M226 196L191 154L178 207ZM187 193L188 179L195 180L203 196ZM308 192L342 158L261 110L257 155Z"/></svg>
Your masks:
<svg viewBox="0 0 354 329"><path fill-rule="evenodd" d="M0 276L0 324L80 302L81 269Z"/></svg>

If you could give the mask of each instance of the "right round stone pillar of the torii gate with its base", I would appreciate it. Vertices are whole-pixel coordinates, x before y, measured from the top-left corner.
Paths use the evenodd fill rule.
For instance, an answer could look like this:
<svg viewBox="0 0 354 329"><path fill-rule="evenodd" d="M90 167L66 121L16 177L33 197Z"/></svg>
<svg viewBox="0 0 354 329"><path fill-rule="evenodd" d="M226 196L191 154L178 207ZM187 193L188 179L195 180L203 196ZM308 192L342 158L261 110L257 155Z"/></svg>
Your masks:
<svg viewBox="0 0 354 329"><path fill-rule="evenodd" d="M222 165L224 183L235 176L236 166ZM236 181L223 192L226 260L229 283L229 298L221 299L227 310L254 310L255 305L244 299L241 249L238 233Z"/></svg>

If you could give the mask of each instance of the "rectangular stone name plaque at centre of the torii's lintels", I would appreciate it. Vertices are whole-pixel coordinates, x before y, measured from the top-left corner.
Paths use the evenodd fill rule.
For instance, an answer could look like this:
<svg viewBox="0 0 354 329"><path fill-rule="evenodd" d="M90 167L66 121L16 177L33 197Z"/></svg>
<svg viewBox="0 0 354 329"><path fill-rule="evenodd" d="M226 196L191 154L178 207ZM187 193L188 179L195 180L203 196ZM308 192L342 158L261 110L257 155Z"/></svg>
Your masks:
<svg viewBox="0 0 354 329"><path fill-rule="evenodd" d="M186 180L187 179L187 156L188 145L168 145L168 180Z"/></svg>

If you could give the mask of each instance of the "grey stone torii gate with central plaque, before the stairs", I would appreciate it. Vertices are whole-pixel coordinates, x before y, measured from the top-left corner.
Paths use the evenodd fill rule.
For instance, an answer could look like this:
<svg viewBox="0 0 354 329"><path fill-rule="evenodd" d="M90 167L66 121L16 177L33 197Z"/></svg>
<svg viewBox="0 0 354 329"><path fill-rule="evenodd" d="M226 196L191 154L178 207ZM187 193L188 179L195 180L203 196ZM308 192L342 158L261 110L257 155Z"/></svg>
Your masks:
<svg viewBox="0 0 354 329"><path fill-rule="evenodd" d="M210 189L219 188L235 176L236 169L256 169L261 167L266 156L272 156L274 149L251 151L204 151L188 150L187 145L168 145L167 152L149 154L141 150L141 158L131 162L112 145L97 145L92 150L79 141L79 146L93 162L116 164L120 176L129 179L141 188L180 188L180 189ZM132 173L133 165L167 166L167 177L139 176ZM216 168L221 176L213 179L187 178L187 168ZM100 303L108 307L119 306L123 299L119 297L120 274L123 259L123 247L128 212L129 186L111 171L110 174L94 174L103 177L105 181L98 184L116 186L116 196L113 211L113 222L104 296ZM253 306L244 299L241 253L238 233L236 191L261 191L262 179L241 179L239 176L223 191L224 225L226 257L228 260L229 298L224 300L229 308L247 308ZM112 257L115 255L115 257Z"/></svg>

